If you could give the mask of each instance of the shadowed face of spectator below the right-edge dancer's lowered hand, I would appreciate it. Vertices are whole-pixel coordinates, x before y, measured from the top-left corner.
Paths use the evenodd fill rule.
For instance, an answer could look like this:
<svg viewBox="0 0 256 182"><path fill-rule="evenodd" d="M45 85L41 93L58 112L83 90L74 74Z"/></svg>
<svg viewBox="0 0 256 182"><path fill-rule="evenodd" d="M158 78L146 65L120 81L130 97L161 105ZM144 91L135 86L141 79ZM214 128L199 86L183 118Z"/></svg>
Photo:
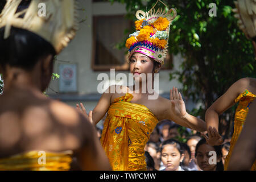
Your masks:
<svg viewBox="0 0 256 182"><path fill-rule="evenodd" d="M199 165L200 169L203 171L215 171L217 164L210 164L209 158L211 155L209 155L210 151L215 151L212 146L209 144L201 144L199 148L197 149L197 164ZM220 158L217 157L217 162L220 162Z"/></svg>

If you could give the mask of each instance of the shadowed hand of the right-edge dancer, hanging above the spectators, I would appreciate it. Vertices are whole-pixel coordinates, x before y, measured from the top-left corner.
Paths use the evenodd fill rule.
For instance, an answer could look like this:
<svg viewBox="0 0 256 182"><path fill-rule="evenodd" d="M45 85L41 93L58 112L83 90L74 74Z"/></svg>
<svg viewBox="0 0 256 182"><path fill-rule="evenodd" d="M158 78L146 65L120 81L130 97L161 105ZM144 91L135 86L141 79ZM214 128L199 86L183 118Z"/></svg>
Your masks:
<svg viewBox="0 0 256 182"><path fill-rule="evenodd" d="M215 128L209 127L207 130L208 136L203 134L203 137L207 140L207 143L211 146L220 146L223 143L223 139Z"/></svg>

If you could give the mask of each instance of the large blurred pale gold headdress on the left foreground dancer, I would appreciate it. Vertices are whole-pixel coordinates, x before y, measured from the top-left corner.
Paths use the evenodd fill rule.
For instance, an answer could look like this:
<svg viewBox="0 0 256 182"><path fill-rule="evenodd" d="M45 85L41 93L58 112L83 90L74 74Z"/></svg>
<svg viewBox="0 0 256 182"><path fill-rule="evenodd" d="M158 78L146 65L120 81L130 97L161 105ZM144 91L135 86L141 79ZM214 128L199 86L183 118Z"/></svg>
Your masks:
<svg viewBox="0 0 256 182"><path fill-rule="evenodd" d="M78 30L76 1L31 0L27 9L16 12L21 2L7 0L0 14L0 28L5 27L4 38L10 36L11 26L22 28L47 40L59 54ZM40 5L46 8L45 14L39 14Z"/></svg>

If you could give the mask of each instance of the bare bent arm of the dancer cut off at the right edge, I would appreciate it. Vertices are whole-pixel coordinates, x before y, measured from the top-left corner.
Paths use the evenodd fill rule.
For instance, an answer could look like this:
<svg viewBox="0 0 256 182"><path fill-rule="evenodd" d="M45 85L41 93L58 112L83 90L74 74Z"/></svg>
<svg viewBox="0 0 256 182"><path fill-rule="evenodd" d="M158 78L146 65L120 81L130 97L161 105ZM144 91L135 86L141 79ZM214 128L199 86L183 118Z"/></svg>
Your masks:
<svg viewBox="0 0 256 182"><path fill-rule="evenodd" d="M209 138L204 135L211 145L220 145L222 139L218 134L218 116L235 104L236 98L249 85L249 78L242 78L235 82L217 101L215 101L205 113L205 122Z"/></svg>

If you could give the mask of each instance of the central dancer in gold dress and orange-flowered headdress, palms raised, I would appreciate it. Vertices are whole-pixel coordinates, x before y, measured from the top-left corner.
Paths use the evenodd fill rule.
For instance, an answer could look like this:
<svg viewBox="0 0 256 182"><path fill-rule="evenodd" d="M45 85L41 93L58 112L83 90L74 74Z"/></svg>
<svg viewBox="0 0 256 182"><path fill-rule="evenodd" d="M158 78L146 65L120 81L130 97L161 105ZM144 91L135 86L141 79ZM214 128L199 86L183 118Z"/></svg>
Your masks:
<svg viewBox="0 0 256 182"><path fill-rule="evenodd" d="M206 130L203 120L187 113L177 88L170 91L170 100L160 96L149 100L154 93L149 93L148 89L142 93L144 85L146 88L149 84L154 85L154 77L148 76L158 73L164 63L170 24L175 16L175 9L167 13L161 9L155 11L154 7L148 12L137 11L137 31L127 39L126 47L129 48L130 72L135 82L139 82L139 88L122 86L122 93L112 93L110 91L119 86L110 86L89 114L96 125L108 112L101 144L114 170L146 170L144 146L158 121L170 119L197 131ZM86 114L84 106L80 106Z"/></svg>

